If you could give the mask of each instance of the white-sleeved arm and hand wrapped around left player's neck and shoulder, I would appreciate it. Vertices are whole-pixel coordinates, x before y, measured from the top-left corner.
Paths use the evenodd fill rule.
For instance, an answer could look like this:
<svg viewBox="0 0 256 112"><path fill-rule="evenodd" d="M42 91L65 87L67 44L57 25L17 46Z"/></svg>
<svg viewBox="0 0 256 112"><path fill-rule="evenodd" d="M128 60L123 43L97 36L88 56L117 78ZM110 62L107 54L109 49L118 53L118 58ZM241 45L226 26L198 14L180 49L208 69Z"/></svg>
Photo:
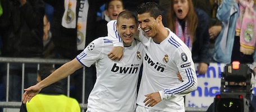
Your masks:
<svg viewBox="0 0 256 112"><path fill-rule="evenodd" d="M108 39L113 42L113 48L111 52L108 53L108 57L111 60L121 60L123 55L124 43L121 38L118 36L116 29L116 20L109 21L107 23L108 28Z"/></svg>

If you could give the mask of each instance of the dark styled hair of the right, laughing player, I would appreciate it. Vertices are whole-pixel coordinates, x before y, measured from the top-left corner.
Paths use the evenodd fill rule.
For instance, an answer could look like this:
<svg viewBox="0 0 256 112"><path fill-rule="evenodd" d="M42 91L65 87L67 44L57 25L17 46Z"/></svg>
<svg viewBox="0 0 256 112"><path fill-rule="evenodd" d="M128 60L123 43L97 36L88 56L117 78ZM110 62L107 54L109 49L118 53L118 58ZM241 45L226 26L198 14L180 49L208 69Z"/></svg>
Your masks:
<svg viewBox="0 0 256 112"><path fill-rule="evenodd" d="M161 9L159 9L158 4L156 2L146 2L141 3L137 7L137 13L143 14L143 13L149 13L151 17L154 17L155 19L162 15Z"/></svg>

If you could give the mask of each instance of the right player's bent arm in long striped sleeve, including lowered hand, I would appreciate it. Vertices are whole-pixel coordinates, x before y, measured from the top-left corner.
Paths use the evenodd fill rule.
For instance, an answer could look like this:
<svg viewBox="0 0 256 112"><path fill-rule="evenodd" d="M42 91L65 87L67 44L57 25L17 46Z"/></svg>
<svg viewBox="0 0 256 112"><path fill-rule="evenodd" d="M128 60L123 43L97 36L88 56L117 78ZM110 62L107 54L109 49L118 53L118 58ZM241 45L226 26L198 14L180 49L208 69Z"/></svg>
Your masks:
<svg viewBox="0 0 256 112"><path fill-rule="evenodd" d="M154 106L158 104L163 99L170 99L173 97L182 97L189 92L196 90L197 88L197 78L195 73L194 62L191 57L191 52L189 48L187 50L176 50L174 52L174 61L176 62L179 72L177 74L178 80L182 80L181 83L175 87L170 87L158 92L153 92L145 95L147 98L144 100L145 106ZM185 53L186 52L186 53ZM184 59L181 59L182 55L185 53ZM180 75L180 76L179 76ZM182 79L181 79L182 77Z"/></svg>

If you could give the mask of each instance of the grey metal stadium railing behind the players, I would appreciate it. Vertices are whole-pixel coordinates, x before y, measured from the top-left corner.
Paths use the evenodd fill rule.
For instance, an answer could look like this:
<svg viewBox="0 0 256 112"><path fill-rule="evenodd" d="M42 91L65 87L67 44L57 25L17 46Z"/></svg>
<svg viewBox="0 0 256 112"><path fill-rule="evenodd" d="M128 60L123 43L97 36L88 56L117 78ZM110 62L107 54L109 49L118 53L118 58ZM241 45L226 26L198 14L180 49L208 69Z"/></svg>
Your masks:
<svg viewBox="0 0 256 112"><path fill-rule="evenodd" d="M0 57L0 63L4 64L7 63L7 85L10 83L9 81L9 72L8 69L10 69L8 66L11 63L20 63L22 64L22 94L24 93L24 71L25 71L25 65L26 64L37 64L37 68L39 70L40 66L44 65L44 64L51 64L53 66L55 66L56 64L58 65L62 65L65 64L66 62L68 62L70 60L63 60L63 59L38 59L38 58L15 58L15 57ZM83 72L83 101L82 103L80 103L80 108L81 111L86 110L87 108L87 104L85 104L84 98L85 98L85 67L84 67L84 72ZM8 101L8 86L7 86L7 90L6 90L6 101L0 101L0 108L20 108L21 106L21 101L20 102L12 102L12 101ZM70 76L67 77L67 96L70 96ZM22 99L21 99L22 100ZM0 110L1 111L1 110ZM206 111L205 108L186 108L186 112L203 112Z"/></svg>

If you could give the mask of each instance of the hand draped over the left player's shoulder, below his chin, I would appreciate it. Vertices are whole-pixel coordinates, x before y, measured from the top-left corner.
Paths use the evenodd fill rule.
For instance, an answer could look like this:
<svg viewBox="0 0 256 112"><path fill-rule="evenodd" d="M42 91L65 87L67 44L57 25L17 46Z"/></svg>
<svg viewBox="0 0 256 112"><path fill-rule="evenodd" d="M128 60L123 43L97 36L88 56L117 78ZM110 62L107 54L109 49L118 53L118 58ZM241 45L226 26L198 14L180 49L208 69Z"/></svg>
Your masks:
<svg viewBox="0 0 256 112"><path fill-rule="evenodd" d="M108 53L108 58L111 60L121 60L123 52L123 47L113 47L112 50Z"/></svg>

